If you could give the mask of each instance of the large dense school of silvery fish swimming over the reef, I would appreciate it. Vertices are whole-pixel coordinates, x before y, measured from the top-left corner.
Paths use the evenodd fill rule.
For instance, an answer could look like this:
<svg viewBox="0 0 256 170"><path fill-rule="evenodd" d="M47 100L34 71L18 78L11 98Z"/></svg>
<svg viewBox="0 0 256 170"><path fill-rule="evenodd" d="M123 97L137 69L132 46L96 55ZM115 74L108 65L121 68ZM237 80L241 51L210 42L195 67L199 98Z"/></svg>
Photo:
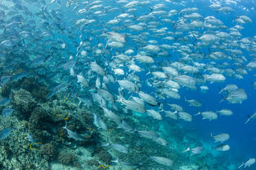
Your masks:
<svg viewBox="0 0 256 170"><path fill-rule="evenodd" d="M96 105L124 132L167 146L158 132L132 127L119 113L147 114L159 123L169 118L191 122L192 113L169 102L169 99L184 99L189 107L198 109L195 115L216 121L220 115L233 115L233 111L202 110L204 102L180 94L180 89L207 93L211 84L218 84L222 87L216 94L222 96L220 102L242 104L248 98L246 90L225 81L241 80L248 71L256 69L256 36L244 37L240 33L250 26L252 19L237 16L232 27L228 27L217 14L228 17L232 8L213 3L209 10L215 11L216 16L205 16L200 9L184 4L186 1L181 0L0 2L0 58L3 64L9 63L1 71L0 86L23 77L39 76L39 81L49 86L46 99L68 93L67 99L74 100L77 107ZM25 71L6 75L17 67ZM2 117L15 112L8 108L9 103L8 98L0 99ZM255 115L247 121L244 118L245 124L253 121ZM92 114L94 125L107 131L102 116ZM83 141L83 134L67 129L67 124L63 129L69 138ZM12 127L1 130L0 139L4 140L11 132ZM224 144L229 134L213 134L213 142L220 144L213 149L231 149ZM124 154L130 152L125 144L106 141L103 147ZM180 152L191 152L193 156L202 151L202 146L189 146ZM148 158L167 167L175 163L158 155ZM118 156L112 162L137 167L122 162ZM250 158L240 167L250 167L254 162Z"/></svg>

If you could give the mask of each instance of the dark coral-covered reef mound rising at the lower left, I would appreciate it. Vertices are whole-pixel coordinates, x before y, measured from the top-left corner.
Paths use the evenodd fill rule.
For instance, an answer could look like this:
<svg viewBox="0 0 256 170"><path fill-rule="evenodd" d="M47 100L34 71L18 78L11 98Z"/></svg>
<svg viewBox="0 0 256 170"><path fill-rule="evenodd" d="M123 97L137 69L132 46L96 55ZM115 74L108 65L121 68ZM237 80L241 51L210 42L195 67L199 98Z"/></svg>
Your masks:
<svg viewBox="0 0 256 170"><path fill-rule="evenodd" d="M9 86L10 85L10 86ZM17 88L19 87L19 88ZM93 156L110 164L111 155L99 144L100 135L94 127L92 113L80 109L63 99L45 100L46 86L36 83L36 78L23 78L1 89L3 97L10 97L16 110L10 117L12 134L0 141L0 169L50 169L50 162L60 162L81 169L77 147L94 148ZM67 129L83 134L84 141L69 138ZM40 159L39 159L40 158ZM99 163L88 160L88 164Z"/></svg>

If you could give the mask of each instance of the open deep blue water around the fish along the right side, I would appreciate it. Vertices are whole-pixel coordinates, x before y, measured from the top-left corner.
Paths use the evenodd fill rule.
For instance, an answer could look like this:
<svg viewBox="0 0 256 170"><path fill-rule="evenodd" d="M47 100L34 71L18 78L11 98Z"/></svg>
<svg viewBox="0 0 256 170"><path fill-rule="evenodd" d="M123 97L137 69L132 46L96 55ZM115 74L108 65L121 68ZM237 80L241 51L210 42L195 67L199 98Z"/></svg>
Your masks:
<svg viewBox="0 0 256 170"><path fill-rule="evenodd" d="M198 8L198 13L202 14L204 17L215 16L227 27L234 26L234 19L236 19L237 16L249 16L250 19L253 20L253 23L243 25L244 29L240 30L240 33L243 37L252 37L256 35L256 4L254 1L240 1L237 2L237 4L228 5L235 10L235 12L231 12L230 14L223 14L222 12L210 10L209 5L211 5L211 3L209 3L209 1L192 1L190 3L187 2L186 4L189 4L189 7ZM246 8L246 10L243 8ZM175 8L171 7L171 9ZM245 57L249 57L246 56L248 54L247 51L243 52ZM243 75L243 80L237 80L233 77L226 76L224 83L206 83L205 85L209 87L207 93L200 93L200 89L193 91L182 88L180 90L181 96L186 96L187 99L198 99L203 102L200 111L212 110L214 112L224 108L233 111L234 114L231 117L225 117L219 114L218 119L213 121L202 120L202 117L200 116L193 117L192 128L195 128L194 130L196 134L199 135L198 138L200 138L200 141L202 140L204 143L208 144L213 143L213 139L210 135L211 132L214 134L220 134L222 132L230 134L231 138L226 143L231 145L231 151L228 151L226 156L230 156L231 159L236 160L237 163L242 160L248 160L248 158L255 158L256 156L255 120L252 119L250 123L244 125L244 122L248 119L248 114L252 115L256 111L256 91L252 86L252 83L256 80L255 73L256 71L248 71L247 75ZM224 88L226 84L237 84L239 88L244 88L248 95L248 99L243 101L242 104L229 104L227 101L220 102L222 100L222 95L218 95L218 93L220 92L220 88ZM150 92L151 90L148 91ZM167 101L169 104L178 104L182 106L186 112L191 114L198 112L196 108L190 107L183 98L179 100L167 99ZM168 121L170 121L170 119L168 119ZM186 126L191 128L189 123L184 123L184 127ZM255 165L250 169L254 168Z"/></svg>

